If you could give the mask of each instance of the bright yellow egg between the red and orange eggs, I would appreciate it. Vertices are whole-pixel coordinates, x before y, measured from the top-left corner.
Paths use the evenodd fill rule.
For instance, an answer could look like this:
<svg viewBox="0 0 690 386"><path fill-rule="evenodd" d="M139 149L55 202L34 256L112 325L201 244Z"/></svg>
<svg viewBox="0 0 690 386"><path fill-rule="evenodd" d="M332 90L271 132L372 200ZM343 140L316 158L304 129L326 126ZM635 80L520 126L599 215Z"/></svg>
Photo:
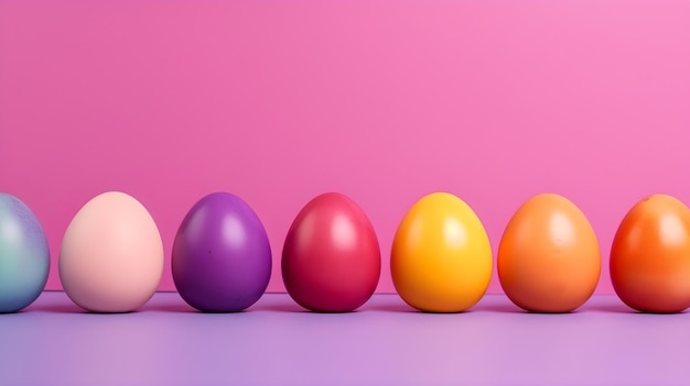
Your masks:
<svg viewBox="0 0 690 386"><path fill-rule="evenodd" d="M492 246L476 213L448 192L417 201L396 231L390 271L396 290L429 312L473 307L492 278Z"/></svg>

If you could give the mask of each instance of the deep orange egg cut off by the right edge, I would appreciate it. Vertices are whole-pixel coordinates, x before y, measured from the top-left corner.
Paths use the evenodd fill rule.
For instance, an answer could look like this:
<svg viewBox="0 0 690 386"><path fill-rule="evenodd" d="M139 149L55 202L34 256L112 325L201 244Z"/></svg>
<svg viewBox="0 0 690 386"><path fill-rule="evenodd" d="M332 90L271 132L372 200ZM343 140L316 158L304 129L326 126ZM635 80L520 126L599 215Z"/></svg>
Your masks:
<svg viewBox="0 0 690 386"><path fill-rule="evenodd" d="M637 202L616 231L610 268L614 290L630 308L690 307L690 209L667 195Z"/></svg>

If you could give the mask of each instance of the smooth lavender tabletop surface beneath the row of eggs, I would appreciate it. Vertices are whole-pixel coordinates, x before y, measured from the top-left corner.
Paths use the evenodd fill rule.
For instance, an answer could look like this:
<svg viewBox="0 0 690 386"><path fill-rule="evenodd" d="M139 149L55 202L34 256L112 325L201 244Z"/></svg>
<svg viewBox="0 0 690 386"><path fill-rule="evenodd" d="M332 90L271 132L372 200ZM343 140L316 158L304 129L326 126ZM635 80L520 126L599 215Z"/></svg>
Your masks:
<svg viewBox="0 0 690 386"><path fill-rule="evenodd" d="M44 293L0 315L0 385L688 385L690 315L643 315L614 296L531 315L504 296L472 311L413 311L376 295L313 313L284 294L248 311L194 311L174 293L140 311L86 313Z"/></svg>

